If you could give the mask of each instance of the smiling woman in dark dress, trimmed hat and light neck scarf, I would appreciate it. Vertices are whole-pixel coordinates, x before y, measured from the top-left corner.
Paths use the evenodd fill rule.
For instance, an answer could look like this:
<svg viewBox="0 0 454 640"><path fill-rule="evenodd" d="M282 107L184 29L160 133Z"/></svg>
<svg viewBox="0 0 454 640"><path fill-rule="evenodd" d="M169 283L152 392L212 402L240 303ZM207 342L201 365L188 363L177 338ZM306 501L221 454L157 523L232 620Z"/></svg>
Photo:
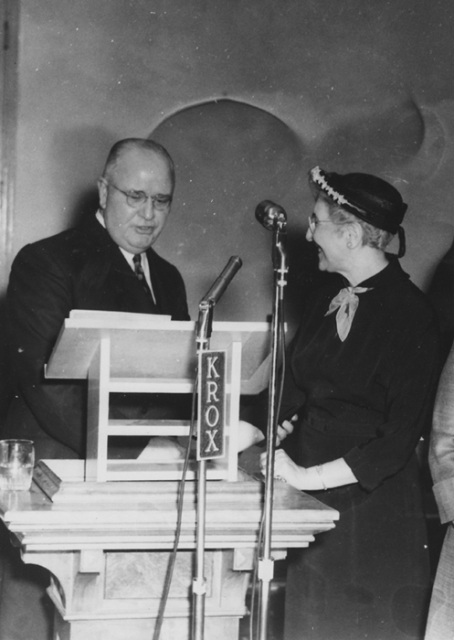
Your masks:
<svg viewBox="0 0 454 640"><path fill-rule="evenodd" d="M429 557L415 448L438 373L430 305L385 252L407 205L366 174L310 172L306 239L329 272L289 348L275 475L338 509L289 558L285 640L422 638ZM265 464L266 454L262 455Z"/></svg>

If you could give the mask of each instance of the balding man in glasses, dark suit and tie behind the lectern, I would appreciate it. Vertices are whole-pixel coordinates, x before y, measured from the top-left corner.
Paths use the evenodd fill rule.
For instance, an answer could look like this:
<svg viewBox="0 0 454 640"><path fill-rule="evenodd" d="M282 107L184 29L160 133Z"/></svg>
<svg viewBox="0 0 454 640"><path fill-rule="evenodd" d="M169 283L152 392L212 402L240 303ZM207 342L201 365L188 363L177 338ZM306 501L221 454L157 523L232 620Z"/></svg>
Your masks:
<svg viewBox="0 0 454 640"><path fill-rule="evenodd" d="M85 383L44 378L72 309L189 320L180 273L151 248L169 216L174 185L173 162L161 145L121 140L98 181L96 216L27 245L14 260L8 309L16 385L1 436L33 440L38 460L85 457Z"/></svg>

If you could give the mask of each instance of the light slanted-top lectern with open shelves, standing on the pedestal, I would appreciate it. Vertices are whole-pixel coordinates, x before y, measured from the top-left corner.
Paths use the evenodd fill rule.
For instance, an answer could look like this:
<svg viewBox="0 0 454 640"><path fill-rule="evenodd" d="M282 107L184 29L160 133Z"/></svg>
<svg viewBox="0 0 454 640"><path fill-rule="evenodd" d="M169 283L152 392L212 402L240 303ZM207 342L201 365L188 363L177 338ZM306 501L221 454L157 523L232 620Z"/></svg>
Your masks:
<svg viewBox="0 0 454 640"><path fill-rule="evenodd" d="M85 479L175 480L183 462L109 460L110 436L187 436L189 421L109 419L111 393L192 394L196 378L194 322L147 314L73 311L46 367L48 378L88 378ZM240 394L267 385L270 327L265 322L215 322L210 348L227 355L227 455L208 479L237 480ZM195 463L187 478L194 479Z"/></svg>

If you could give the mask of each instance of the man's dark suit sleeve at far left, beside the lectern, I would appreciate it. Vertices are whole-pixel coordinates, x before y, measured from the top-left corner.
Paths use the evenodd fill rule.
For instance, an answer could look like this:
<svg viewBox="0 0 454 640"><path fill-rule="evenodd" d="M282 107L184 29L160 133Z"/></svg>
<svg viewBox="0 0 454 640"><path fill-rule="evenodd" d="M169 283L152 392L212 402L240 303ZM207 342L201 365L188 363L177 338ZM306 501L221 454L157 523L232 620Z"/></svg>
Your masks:
<svg viewBox="0 0 454 640"><path fill-rule="evenodd" d="M71 310L72 283L58 255L29 245L16 257L8 286L11 356L17 392L47 436L83 455L83 384L44 378L47 361Z"/></svg>

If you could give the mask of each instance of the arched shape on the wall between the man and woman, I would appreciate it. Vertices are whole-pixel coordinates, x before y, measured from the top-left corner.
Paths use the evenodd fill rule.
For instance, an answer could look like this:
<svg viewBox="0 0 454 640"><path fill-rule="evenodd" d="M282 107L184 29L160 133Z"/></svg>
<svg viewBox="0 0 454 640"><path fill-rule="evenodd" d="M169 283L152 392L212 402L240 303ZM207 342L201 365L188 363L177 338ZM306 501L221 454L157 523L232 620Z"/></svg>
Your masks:
<svg viewBox="0 0 454 640"><path fill-rule="evenodd" d="M217 305L216 319L264 321L272 311L272 233L255 219L259 202L272 200L287 211L292 269L307 259L309 160L298 136L262 109L219 100L174 114L150 137L176 165L172 215L157 248L184 274L191 317L228 259L238 255L243 267ZM293 307L289 301L290 321Z"/></svg>

